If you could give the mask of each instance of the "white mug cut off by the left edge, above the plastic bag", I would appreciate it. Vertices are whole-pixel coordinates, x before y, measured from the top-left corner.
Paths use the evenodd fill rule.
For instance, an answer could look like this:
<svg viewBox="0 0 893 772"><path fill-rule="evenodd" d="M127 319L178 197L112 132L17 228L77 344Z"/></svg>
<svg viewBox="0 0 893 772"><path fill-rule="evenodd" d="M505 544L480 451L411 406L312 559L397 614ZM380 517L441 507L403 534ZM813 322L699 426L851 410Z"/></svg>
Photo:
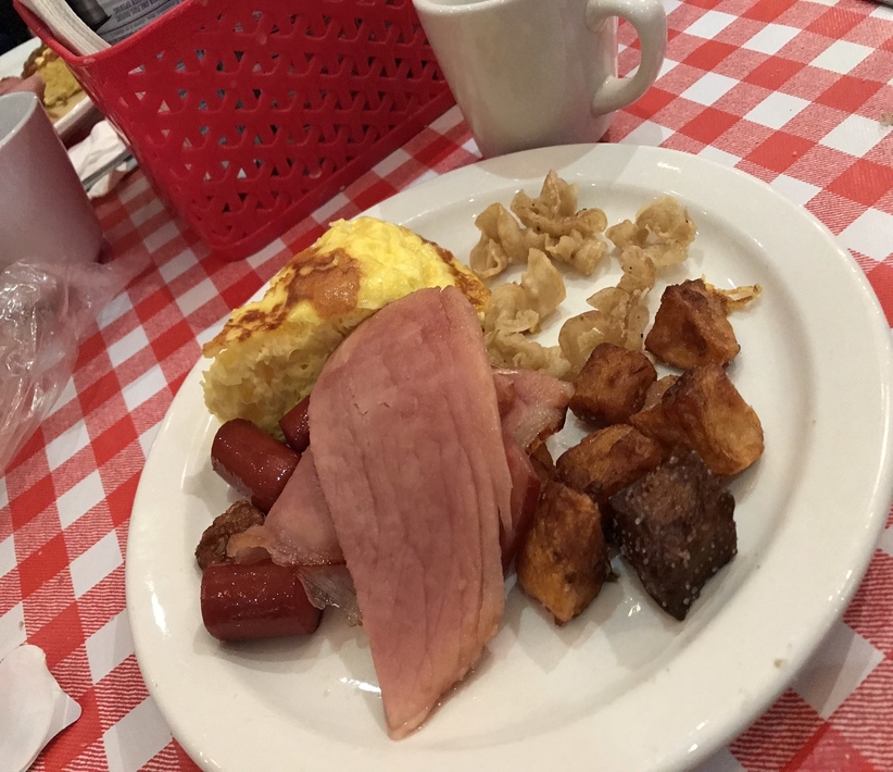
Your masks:
<svg viewBox="0 0 893 772"><path fill-rule="evenodd" d="M102 229L68 153L29 91L0 97L0 269L96 260Z"/></svg>

